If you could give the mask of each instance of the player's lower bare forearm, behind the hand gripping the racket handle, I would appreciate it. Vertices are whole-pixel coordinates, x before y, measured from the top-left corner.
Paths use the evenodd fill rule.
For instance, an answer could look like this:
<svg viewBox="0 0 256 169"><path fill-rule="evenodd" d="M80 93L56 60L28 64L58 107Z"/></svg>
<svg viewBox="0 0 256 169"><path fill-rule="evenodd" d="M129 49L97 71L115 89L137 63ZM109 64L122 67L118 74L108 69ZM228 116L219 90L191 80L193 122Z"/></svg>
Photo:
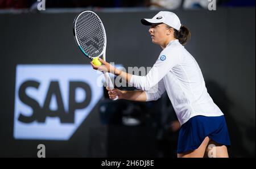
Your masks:
<svg viewBox="0 0 256 169"><path fill-rule="evenodd" d="M144 91L122 91L121 99L146 102L147 95Z"/></svg>

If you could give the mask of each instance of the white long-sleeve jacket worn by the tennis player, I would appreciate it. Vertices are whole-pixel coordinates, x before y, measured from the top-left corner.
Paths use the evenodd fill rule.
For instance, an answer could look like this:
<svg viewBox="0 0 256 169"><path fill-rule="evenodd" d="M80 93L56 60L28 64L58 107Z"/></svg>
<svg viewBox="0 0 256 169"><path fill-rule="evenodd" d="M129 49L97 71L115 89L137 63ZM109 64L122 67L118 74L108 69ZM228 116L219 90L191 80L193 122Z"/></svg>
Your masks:
<svg viewBox="0 0 256 169"><path fill-rule="evenodd" d="M207 92L195 58L179 40L170 41L146 76L132 75L129 83L146 91L147 101L167 91L181 125L197 115L223 115Z"/></svg>

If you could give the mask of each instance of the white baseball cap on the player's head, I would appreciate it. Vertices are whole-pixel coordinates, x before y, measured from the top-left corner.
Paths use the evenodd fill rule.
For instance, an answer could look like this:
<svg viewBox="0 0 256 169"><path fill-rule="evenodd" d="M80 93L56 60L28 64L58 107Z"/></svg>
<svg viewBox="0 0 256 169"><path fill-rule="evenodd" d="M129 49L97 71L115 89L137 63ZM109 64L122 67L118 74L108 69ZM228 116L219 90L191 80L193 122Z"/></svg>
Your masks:
<svg viewBox="0 0 256 169"><path fill-rule="evenodd" d="M141 19L141 23L146 26L151 26L154 23L165 23L170 27L180 30L181 23L179 17L174 12L160 11L152 19Z"/></svg>

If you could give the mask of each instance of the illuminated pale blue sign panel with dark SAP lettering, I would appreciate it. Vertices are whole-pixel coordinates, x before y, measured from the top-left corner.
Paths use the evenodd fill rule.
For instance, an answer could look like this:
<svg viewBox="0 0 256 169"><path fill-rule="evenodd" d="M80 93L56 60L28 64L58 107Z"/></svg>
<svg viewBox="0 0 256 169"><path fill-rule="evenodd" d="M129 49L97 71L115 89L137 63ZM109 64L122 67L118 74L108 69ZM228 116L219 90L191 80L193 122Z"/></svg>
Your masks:
<svg viewBox="0 0 256 169"><path fill-rule="evenodd" d="M69 140L103 95L90 65L18 65L14 138Z"/></svg>

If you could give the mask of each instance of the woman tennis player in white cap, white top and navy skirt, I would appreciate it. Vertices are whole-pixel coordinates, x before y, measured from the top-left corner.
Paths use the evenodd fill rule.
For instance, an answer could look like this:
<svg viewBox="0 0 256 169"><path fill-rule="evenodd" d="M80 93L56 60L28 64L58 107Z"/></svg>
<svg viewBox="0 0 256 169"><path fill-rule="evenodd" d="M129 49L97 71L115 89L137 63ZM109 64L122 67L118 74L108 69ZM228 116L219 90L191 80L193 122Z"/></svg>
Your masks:
<svg viewBox="0 0 256 169"><path fill-rule="evenodd" d="M110 99L147 102L157 100L167 91L181 128L177 157L229 157L230 145L224 114L207 92L203 74L195 58L183 45L190 39L188 28L173 12L160 11L152 19L142 19L151 26L152 43L163 48L146 76L118 70L104 60L93 69L121 76L139 91L109 90Z"/></svg>

